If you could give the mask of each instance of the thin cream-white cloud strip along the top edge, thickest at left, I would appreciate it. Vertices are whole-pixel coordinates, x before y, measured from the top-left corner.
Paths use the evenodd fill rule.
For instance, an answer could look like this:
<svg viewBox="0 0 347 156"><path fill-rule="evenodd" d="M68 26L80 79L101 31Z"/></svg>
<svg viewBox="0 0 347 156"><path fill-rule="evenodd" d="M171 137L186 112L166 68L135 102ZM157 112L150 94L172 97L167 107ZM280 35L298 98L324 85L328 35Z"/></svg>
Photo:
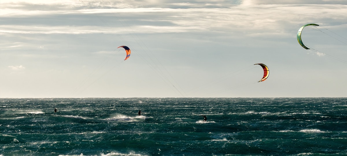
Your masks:
<svg viewBox="0 0 347 156"><path fill-rule="evenodd" d="M335 4L347 5L346 0L2 0L0 15L16 14L21 10L31 14L37 11L71 11L88 9L117 8L230 8L248 5L298 5L298 4Z"/></svg>

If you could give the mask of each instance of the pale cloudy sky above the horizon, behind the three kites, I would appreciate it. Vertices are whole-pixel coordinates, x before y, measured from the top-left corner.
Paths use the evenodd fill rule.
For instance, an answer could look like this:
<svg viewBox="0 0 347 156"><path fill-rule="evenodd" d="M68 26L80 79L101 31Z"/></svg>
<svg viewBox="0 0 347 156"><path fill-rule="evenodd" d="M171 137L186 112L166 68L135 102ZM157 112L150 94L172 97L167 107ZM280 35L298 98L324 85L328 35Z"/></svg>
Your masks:
<svg viewBox="0 0 347 156"><path fill-rule="evenodd" d="M346 97L346 12L345 0L1 0L0 98ZM306 50L296 35L310 23Z"/></svg>

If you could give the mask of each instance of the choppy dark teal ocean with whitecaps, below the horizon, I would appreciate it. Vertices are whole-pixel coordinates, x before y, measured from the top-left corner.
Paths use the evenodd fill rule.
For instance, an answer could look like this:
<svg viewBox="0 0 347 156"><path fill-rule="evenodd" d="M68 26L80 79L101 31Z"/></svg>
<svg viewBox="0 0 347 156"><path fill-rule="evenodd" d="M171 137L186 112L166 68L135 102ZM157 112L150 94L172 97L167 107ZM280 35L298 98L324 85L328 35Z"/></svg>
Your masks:
<svg viewBox="0 0 347 156"><path fill-rule="evenodd" d="M347 155L347 98L0 98L0 147L1 156Z"/></svg>

